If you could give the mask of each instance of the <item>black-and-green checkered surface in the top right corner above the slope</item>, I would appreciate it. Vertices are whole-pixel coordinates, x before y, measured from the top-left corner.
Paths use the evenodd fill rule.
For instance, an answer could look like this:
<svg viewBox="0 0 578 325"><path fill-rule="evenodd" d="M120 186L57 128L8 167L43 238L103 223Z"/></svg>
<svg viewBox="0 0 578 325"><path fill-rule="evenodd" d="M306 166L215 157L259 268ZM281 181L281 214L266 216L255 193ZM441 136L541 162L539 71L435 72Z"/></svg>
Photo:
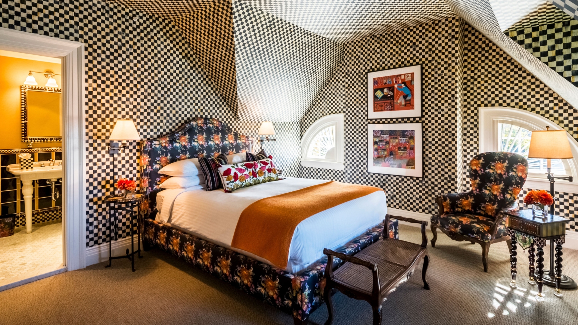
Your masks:
<svg viewBox="0 0 578 325"><path fill-rule="evenodd" d="M578 86L578 21L547 2L505 34Z"/></svg>

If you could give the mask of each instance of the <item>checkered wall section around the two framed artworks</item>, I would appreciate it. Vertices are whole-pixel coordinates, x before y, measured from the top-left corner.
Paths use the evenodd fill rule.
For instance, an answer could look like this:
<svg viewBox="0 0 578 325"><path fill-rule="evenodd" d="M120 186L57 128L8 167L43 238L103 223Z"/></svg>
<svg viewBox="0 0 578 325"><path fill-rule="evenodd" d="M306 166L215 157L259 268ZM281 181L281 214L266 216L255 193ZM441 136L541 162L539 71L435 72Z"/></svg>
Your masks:
<svg viewBox="0 0 578 325"><path fill-rule="evenodd" d="M460 20L443 19L397 32L346 43L343 60L301 120L301 133L317 119L345 114L345 170L302 167L302 177L336 179L381 187L388 206L434 213L436 195L457 191L457 87ZM366 73L421 64L424 117L367 119ZM424 124L424 178L383 175L367 171L367 124Z"/></svg>

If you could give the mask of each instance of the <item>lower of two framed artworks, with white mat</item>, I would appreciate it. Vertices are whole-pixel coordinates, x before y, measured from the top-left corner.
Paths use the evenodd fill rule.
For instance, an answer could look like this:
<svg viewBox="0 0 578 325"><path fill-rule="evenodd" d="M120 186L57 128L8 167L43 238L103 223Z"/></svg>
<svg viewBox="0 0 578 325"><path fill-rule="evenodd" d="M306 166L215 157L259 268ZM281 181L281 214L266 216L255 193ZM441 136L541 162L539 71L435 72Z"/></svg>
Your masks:
<svg viewBox="0 0 578 325"><path fill-rule="evenodd" d="M422 123L368 124L368 171L423 177Z"/></svg>

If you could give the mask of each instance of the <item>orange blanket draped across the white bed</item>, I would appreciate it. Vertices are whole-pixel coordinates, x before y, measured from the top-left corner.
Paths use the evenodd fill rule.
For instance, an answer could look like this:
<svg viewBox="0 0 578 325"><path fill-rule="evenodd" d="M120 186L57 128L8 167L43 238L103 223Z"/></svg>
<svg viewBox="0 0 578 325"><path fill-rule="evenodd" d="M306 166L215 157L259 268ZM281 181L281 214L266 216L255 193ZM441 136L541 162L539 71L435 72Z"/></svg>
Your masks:
<svg viewBox="0 0 578 325"><path fill-rule="evenodd" d="M255 201L241 213L231 246L286 268L293 232L301 221L375 191L381 189L332 181Z"/></svg>

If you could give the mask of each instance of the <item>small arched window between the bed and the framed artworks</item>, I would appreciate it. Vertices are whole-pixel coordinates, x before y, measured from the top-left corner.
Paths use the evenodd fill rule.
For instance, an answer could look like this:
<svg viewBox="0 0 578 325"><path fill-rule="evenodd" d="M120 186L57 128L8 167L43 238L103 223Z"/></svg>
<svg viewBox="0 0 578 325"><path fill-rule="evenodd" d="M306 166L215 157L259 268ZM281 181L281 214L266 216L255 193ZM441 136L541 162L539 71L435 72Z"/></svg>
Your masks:
<svg viewBox="0 0 578 325"><path fill-rule="evenodd" d="M342 171L343 114L333 114L315 121L301 139L301 165Z"/></svg>

